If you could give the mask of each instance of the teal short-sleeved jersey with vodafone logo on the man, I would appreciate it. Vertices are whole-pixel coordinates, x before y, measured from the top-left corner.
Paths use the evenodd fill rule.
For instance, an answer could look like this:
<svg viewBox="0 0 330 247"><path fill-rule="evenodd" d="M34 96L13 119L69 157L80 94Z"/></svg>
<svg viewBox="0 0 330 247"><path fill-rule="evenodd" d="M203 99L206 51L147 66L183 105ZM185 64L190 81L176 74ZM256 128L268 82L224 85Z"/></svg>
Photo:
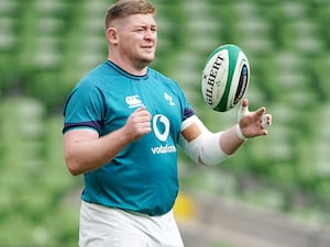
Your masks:
<svg viewBox="0 0 330 247"><path fill-rule="evenodd" d="M122 127L142 105L152 115L152 132L129 144L109 164L86 172L82 200L148 215L173 207L180 125L194 115L174 80L152 68L144 76L133 76L107 60L68 96L63 132L88 127L103 136Z"/></svg>

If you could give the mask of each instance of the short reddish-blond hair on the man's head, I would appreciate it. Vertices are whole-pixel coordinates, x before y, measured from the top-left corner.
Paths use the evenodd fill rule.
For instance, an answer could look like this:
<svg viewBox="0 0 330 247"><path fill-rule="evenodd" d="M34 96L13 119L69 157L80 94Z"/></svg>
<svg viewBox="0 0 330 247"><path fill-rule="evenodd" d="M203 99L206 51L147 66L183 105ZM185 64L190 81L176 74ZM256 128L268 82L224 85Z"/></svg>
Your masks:
<svg viewBox="0 0 330 247"><path fill-rule="evenodd" d="M152 3L146 0L119 0L112 4L106 14L106 29L111 21L129 16L131 14L155 14L156 10Z"/></svg>

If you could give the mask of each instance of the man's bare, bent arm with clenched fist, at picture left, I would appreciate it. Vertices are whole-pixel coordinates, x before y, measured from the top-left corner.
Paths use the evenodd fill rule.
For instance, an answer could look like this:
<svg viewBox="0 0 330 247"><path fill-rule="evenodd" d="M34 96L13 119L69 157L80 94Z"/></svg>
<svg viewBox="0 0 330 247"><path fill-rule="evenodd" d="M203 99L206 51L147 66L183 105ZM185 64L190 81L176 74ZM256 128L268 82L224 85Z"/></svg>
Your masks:
<svg viewBox="0 0 330 247"><path fill-rule="evenodd" d="M151 132L151 115L145 108L133 112L125 125L105 136L91 128L74 128L63 136L64 158L73 175L96 170L111 161L131 142Z"/></svg>

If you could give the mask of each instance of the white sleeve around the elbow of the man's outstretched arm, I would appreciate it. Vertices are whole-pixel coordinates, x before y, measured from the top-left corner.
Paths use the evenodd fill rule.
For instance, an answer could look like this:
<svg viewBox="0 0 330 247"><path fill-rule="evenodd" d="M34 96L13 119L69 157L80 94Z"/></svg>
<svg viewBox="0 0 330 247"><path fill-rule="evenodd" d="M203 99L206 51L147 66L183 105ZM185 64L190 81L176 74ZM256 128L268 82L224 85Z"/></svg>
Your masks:
<svg viewBox="0 0 330 247"><path fill-rule="evenodd" d="M198 125L201 134L188 142L182 133L194 123ZM196 162L215 166L229 157L220 147L222 132L211 133L196 115L190 116L182 123L182 133L178 143L185 153Z"/></svg>

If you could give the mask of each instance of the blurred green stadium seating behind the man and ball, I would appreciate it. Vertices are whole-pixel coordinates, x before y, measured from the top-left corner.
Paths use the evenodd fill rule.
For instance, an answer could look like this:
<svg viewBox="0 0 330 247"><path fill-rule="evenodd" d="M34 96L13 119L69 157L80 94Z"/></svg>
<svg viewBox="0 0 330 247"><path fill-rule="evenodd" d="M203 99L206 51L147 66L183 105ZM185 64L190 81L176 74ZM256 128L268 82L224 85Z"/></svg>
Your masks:
<svg viewBox="0 0 330 247"><path fill-rule="evenodd" d="M109 0L0 0L0 246L77 246L81 177L62 154L62 104L106 59ZM235 122L200 94L211 50L234 43L251 64L251 108L270 135L222 166L180 155L175 212L187 247L330 246L330 1L153 0L152 65L176 79L211 130Z"/></svg>

